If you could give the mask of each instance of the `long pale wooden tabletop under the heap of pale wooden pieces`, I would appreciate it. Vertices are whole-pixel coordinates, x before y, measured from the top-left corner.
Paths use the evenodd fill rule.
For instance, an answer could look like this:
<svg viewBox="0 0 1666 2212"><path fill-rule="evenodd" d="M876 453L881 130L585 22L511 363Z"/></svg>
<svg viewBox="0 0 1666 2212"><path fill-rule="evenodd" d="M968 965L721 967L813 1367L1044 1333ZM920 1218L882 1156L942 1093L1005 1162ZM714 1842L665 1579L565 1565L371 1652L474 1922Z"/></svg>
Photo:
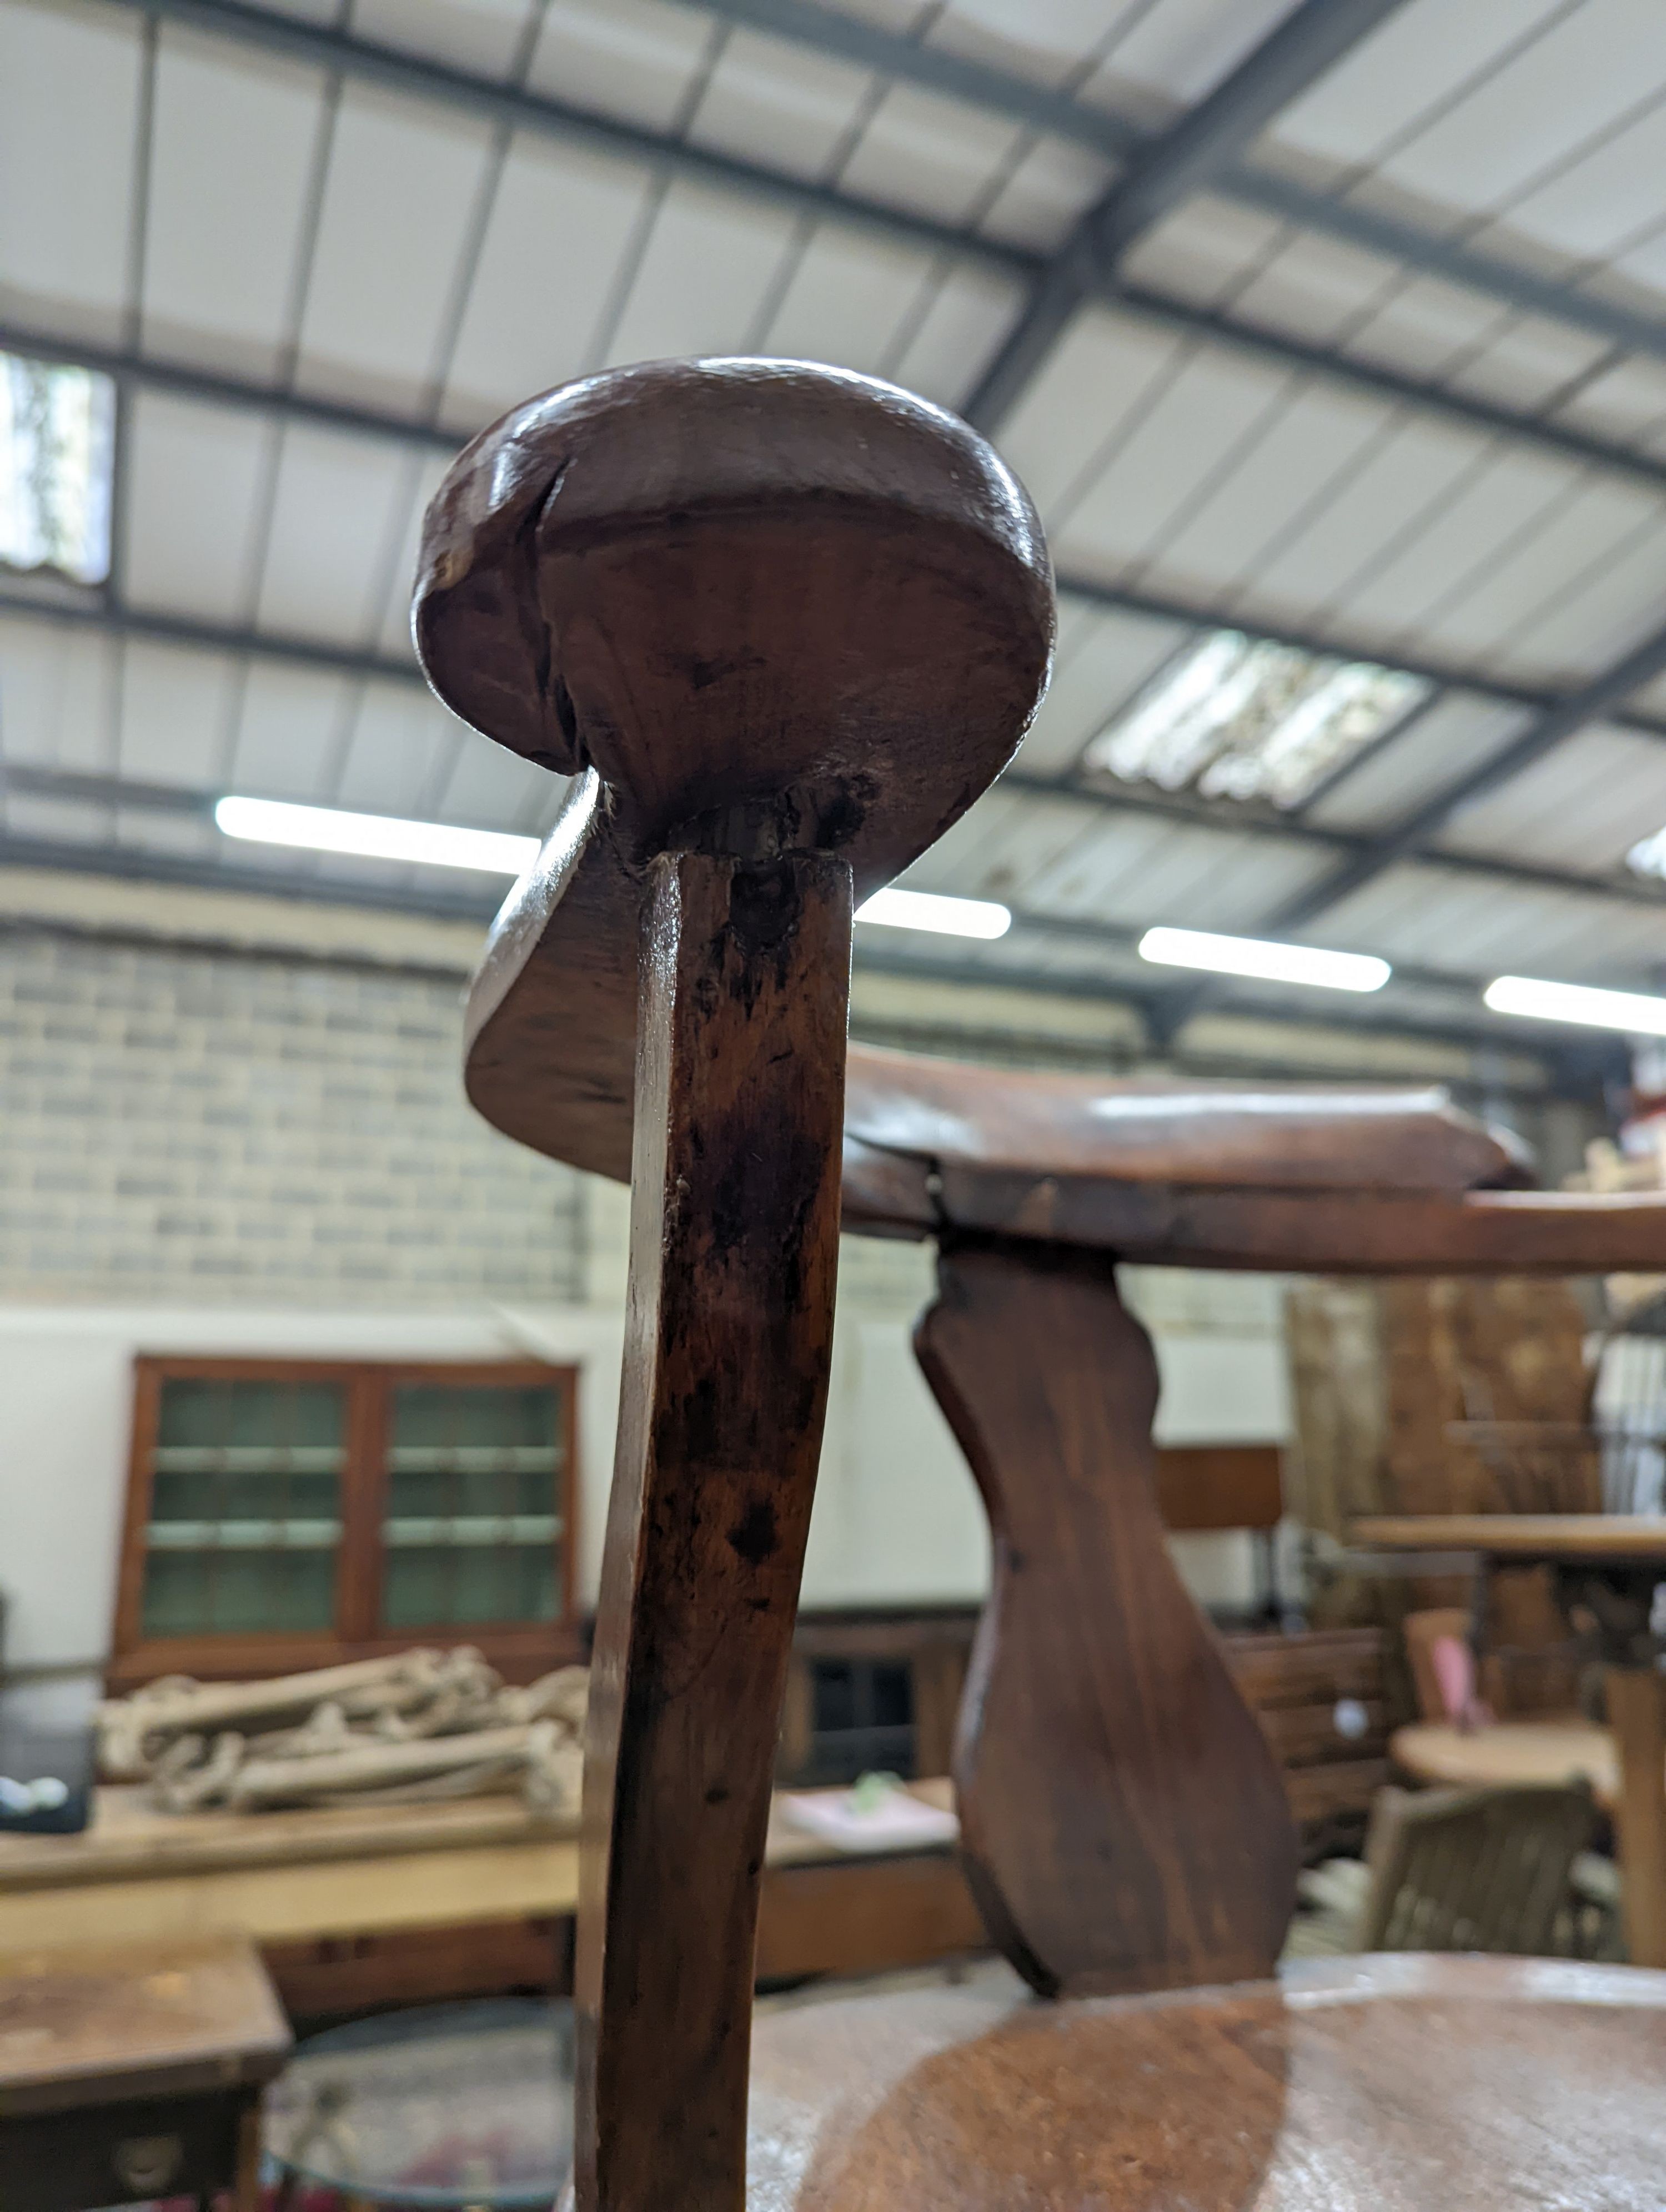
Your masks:
<svg viewBox="0 0 1666 2212"><path fill-rule="evenodd" d="M951 1805L947 1778L912 1785L927 1805ZM0 1836L0 1893L122 1882L148 1876L237 1874L436 1849L573 1843L575 1818L529 1812L516 1796L436 1805L321 1805L303 1812L157 1812L133 1785L95 1794L80 1836ZM896 1854L892 1854L896 1856ZM852 1863L858 1854L772 1814L768 1865Z"/></svg>

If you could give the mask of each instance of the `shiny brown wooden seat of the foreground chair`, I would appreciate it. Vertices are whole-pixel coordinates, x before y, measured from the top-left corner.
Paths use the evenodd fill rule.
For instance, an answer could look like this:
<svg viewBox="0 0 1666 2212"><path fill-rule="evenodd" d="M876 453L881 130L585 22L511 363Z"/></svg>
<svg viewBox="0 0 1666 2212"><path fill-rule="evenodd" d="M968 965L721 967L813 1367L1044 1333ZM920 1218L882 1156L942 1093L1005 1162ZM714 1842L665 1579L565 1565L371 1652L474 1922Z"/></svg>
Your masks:
<svg viewBox="0 0 1666 2212"><path fill-rule="evenodd" d="M750 2212L1626 2212L1662 2203L1666 1973L1376 1953L1042 2004L766 2015Z"/></svg>

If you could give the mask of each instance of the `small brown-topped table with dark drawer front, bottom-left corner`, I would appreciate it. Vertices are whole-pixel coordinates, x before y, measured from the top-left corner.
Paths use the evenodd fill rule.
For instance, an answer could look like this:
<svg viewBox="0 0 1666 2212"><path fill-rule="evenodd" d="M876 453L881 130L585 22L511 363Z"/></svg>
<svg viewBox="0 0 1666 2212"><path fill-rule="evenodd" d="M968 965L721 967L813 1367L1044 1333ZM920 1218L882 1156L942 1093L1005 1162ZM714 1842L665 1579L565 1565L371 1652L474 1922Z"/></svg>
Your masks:
<svg viewBox="0 0 1666 2212"><path fill-rule="evenodd" d="M261 2088L288 2053L241 1936L0 1958L0 2205L230 2190L254 2212Z"/></svg>

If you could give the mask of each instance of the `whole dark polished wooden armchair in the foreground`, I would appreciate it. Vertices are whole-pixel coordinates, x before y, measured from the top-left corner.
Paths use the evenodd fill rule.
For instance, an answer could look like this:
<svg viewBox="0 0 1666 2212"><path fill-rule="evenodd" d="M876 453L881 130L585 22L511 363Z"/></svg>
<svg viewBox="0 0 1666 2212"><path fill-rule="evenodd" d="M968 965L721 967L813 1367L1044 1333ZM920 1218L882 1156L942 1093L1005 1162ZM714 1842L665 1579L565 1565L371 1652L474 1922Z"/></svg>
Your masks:
<svg viewBox="0 0 1666 2212"><path fill-rule="evenodd" d="M1518 1164L1438 1097L845 1053L852 900L1000 770L1051 648L1020 487L905 394L779 363L549 394L440 489L416 635L456 712L577 776L478 975L469 1093L633 1183L580 2208L746 2199L757 1880L841 1206L847 1228L938 1239L918 1352L996 1528L960 1728L967 1871L1013 1964L1080 2002L772 2022L757 2203L1237 2208L1272 2177L1257 2201L1294 2205L1314 2161L1332 2208L1381 2203L1389 2161L1403 2203L1580 2201L1569 2168L1642 2201L1666 2119L1653 1986L1529 1997L1445 1960L1350 1966L1316 2004L1266 1984L1294 1832L1168 1562L1155 1365L1113 1261L1642 1265L1666 1208L1502 1188ZM1201 1982L1250 1986L1102 2002ZM1462 2022L1462 2064L1431 2017Z"/></svg>

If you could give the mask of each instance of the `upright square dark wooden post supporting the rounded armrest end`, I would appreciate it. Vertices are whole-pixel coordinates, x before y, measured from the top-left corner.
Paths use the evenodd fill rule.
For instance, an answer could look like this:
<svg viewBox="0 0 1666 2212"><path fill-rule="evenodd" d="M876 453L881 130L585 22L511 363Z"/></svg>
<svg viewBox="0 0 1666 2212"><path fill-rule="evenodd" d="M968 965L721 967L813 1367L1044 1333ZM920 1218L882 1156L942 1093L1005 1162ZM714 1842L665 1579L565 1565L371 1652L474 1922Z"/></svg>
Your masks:
<svg viewBox="0 0 1666 2212"><path fill-rule="evenodd" d="M653 863L591 1666L580 2212L739 2212L770 1770L839 1263L852 878Z"/></svg>

